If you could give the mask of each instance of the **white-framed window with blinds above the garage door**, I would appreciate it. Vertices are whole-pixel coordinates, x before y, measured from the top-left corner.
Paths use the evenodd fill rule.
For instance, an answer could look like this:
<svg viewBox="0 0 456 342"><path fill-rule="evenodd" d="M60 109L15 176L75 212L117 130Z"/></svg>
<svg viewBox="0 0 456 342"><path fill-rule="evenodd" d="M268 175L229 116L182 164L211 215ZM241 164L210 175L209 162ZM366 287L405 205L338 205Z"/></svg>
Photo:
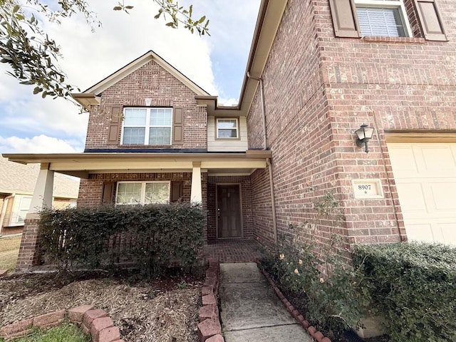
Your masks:
<svg viewBox="0 0 456 342"><path fill-rule="evenodd" d="M361 36L408 37L403 0L355 0Z"/></svg>

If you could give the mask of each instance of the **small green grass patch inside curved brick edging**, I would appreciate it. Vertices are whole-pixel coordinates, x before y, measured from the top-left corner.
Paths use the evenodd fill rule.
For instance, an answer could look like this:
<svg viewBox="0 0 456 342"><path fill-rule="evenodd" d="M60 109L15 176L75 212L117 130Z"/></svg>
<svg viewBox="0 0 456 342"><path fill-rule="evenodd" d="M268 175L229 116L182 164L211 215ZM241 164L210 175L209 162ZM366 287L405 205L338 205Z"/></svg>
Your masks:
<svg viewBox="0 0 456 342"><path fill-rule="evenodd" d="M0 341L3 341L0 338ZM14 338L14 342L89 342L90 336L83 333L82 329L71 323L47 330L36 330L28 336Z"/></svg>

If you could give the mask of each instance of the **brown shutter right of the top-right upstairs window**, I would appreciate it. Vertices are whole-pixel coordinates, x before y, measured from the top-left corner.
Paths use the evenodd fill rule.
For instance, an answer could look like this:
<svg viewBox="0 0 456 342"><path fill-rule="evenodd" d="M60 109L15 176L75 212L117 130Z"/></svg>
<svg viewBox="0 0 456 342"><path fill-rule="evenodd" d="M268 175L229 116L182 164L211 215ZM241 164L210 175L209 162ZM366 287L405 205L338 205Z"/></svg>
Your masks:
<svg viewBox="0 0 456 342"><path fill-rule="evenodd" d="M435 0L415 0L421 28L428 41L448 41Z"/></svg>

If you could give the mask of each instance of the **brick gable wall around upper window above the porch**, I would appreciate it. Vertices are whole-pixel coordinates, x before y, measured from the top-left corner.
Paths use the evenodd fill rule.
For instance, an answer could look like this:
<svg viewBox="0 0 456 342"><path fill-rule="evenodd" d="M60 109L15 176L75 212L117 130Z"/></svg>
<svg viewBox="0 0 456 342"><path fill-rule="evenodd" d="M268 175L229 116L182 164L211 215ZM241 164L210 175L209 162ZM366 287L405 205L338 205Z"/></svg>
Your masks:
<svg viewBox="0 0 456 342"><path fill-rule="evenodd" d="M107 145L111 107L113 105L145 106L145 98L152 99L152 107L172 106L184 109L184 144L172 147L207 147L206 109L197 107L195 93L192 90L157 63L150 61L103 91L100 105L91 106L86 148L118 147L118 145ZM118 136L120 143L120 128Z"/></svg>

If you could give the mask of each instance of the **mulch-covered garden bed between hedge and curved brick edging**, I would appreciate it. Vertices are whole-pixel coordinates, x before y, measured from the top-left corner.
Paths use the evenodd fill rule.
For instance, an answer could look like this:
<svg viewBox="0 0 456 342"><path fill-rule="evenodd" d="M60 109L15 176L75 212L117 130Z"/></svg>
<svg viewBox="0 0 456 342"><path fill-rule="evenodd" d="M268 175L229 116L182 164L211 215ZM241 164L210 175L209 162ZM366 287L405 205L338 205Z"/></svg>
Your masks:
<svg viewBox="0 0 456 342"><path fill-rule="evenodd" d="M0 326L90 304L105 310L127 342L196 342L202 279L132 282L104 274L33 274L0 279Z"/></svg>

